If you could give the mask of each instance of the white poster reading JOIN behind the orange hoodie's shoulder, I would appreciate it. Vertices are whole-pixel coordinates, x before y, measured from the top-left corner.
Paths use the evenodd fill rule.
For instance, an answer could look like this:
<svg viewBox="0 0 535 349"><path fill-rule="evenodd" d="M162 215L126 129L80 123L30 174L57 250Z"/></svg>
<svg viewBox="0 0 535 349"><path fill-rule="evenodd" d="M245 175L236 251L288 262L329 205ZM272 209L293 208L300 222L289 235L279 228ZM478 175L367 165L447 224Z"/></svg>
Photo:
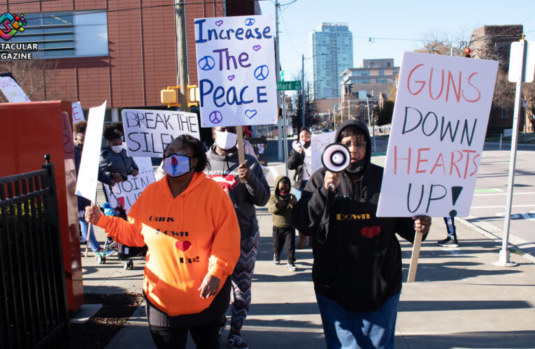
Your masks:
<svg viewBox="0 0 535 349"><path fill-rule="evenodd" d="M150 158L136 156L134 157L134 162L139 168L138 175L134 177L129 174L126 181L116 183L115 186L112 187L113 195L115 195L115 197L110 194L110 188L108 186L104 186L110 205L112 207L117 207L118 200L127 214L130 210L130 207L132 207L134 202L138 200L141 192L147 188L149 184L156 181L154 177L154 171L152 170L152 161L150 161ZM117 200L115 200L115 198L117 198Z"/></svg>

